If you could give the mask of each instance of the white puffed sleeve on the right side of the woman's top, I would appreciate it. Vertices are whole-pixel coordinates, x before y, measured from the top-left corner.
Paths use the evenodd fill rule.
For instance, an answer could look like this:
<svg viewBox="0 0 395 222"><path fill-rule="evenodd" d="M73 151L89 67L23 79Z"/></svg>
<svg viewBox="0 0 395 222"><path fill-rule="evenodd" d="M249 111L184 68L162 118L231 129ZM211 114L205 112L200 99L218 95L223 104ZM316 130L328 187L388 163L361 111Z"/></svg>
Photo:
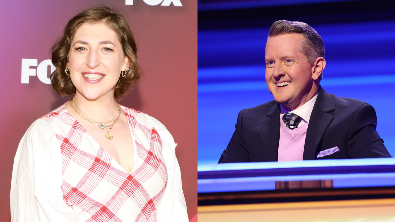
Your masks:
<svg viewBox="0 0 395 222"><path fill-rule="evenodd" d="M181 171L175 156L173 136L158 120L154 118L152 120L162 139L162 156L167 169L166 189L156 208L157 222L188 222L188 213L182 192Z"/></svg>

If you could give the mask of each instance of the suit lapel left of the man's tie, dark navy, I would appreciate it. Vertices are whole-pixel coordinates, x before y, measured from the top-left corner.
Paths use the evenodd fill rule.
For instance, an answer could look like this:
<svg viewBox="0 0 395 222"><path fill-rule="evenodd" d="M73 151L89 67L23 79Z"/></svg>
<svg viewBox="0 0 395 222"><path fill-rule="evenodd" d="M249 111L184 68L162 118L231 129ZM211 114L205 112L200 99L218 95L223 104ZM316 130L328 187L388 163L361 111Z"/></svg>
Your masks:
<svg viewBox="0 0 395 222"><path fill-rule="evenodd" d="M277 161L278 142L280 141L280 104L267 113L267 119L261 122L260 152L262 162Z"/></svg>

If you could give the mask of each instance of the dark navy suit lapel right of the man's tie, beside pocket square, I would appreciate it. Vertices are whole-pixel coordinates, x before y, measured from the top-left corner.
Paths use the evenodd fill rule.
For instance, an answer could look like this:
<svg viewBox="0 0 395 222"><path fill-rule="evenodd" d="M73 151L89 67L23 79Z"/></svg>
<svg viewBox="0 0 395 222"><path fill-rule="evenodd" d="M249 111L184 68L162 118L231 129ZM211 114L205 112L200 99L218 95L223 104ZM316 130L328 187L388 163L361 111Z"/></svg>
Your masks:
<svg viewBox="0 0 395 222"><path fill-rule="evenodd" d="M306 133L303 160L314 160L316 149L333 119L329 112L335 110L331 96L320 86L318 96L311 112Z"/></svg>

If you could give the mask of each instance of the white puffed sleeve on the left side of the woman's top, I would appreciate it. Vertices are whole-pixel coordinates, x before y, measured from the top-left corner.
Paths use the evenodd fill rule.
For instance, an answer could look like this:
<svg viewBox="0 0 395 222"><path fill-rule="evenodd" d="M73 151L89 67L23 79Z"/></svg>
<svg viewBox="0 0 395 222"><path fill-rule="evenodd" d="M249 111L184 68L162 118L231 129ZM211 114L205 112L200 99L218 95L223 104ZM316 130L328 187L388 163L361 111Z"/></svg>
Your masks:
<svg viewBox="0 0 395 222"><path fill-rule="evenodd" d="M63 201L62 155L55 132L36 120L19 143L11 179L12 222L77 222Z"/></svg>

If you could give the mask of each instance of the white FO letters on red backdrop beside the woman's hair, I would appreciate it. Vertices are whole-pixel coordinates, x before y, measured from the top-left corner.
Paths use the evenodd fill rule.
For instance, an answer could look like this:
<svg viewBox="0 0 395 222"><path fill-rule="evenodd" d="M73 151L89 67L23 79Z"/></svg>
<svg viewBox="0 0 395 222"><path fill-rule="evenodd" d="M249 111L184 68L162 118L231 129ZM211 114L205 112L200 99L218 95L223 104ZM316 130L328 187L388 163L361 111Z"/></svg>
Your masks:
<svg viewBox="0 0 395 222"><path fill-rule="evenodd" d="M41 82L51 84L51 79L48 78L48 66L51 66L51 73L55 71L55 66L50 59L44 60L38 65L37 63L37 59L34 58L22 59L21 83L29 83L29 77L36 76L37 73L37 77ZM37 70L30 68L30 66L37 66Z"/></svg>

